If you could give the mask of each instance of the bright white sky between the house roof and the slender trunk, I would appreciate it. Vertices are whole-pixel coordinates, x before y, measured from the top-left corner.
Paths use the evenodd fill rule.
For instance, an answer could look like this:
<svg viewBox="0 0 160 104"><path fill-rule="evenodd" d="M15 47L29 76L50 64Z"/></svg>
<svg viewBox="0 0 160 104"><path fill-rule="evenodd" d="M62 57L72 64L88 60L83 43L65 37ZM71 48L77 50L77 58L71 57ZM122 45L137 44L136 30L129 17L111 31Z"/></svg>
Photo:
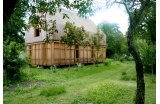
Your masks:
<svg viewBox="0 0 160 104"><path fill-rule="evenodd" d="M103 21L108 21L110 23L117 23L118 26L120 27L120 31L123 34L125 34L129 24L128 24L128 15L125 12L124 7L122 5L118 6L115 4L109 9L107 9L105 5L103 6L104 7L101 10L97 11L94 16L90 17L90 19L96 25L98 25Z"/></svg>

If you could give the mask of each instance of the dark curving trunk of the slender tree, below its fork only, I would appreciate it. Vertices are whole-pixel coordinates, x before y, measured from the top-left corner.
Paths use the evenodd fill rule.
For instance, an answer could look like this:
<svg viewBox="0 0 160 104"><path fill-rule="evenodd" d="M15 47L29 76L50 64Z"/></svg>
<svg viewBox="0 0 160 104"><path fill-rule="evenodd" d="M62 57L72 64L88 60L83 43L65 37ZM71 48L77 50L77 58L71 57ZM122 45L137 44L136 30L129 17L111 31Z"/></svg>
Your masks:
<svg viewBox="0 0 160 104"><path fill-rule="evenodd" d="M143 75L143 64L142 64L142 60L140 59L140 55L133 44L134 29L135 29L135 26L133 25L133 23L130 23L128 36L127 36L128 50L133 56L136 64L136 74L137 74L136 104L144 104L145 83L144 83L144 75Z"/></svg>

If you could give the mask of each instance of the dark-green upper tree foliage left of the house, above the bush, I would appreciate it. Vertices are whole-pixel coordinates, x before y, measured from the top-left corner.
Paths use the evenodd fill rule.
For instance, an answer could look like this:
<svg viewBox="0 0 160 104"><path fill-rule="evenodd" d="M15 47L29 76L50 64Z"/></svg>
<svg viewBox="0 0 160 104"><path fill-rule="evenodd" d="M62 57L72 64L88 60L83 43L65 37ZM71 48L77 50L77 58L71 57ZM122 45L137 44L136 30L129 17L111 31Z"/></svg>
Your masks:
<svg viewBox="0 0 160 104"><path fill-rule="evenodd" d="M3 24L3 41L7 40L7 44L11 41L24 45L25 36L25 11L27 10L26 0L18 0L14 12L10 14L10 18ZM24 49L22 47L22 49Z"/></svg>

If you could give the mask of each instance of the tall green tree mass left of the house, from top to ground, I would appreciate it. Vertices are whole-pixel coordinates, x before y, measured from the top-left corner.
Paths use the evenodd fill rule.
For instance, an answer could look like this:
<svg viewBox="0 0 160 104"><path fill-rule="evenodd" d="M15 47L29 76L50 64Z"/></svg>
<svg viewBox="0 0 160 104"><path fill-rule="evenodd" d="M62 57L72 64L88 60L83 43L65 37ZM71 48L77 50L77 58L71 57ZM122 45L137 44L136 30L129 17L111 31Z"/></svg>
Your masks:
<svg viewBox="0 0 160 104"><path fill-rule="evenodd" d="M24 31L26 28L24 17L27 2L17 1L12 14L5 15L3 22L3 71L4 85L21 79L20 68L25 61L20 58L20 52L25 50ZM7 10L8 11L8 10ZM10 12L9 12L10 13Z"/></svg>

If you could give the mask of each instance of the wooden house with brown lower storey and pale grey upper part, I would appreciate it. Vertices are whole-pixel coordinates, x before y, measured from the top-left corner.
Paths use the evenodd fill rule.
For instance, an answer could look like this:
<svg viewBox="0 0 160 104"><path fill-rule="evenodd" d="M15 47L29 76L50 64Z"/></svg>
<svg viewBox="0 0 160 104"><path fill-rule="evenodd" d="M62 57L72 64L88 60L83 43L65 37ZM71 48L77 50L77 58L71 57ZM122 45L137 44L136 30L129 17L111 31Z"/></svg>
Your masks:
<svg viewBox="0 0 160 104"><path fill-rule="evenodd" d="M63 13L68 14L69 19L63 19ZM96 49L94 46L78 46L73 44L68 47L64 43L60 43L60 37L64 35L63 27L67 21L74 23L76 26L83 26L90 35L97 32L97 26L90 20L77 16L76 13L63 10L61 13L56 13L54 16L47 15L46 19L56 20L58 33L52 36L52 41L45 43L45 31L38 31L31 27L25 34L26 55L31 57L31 63L40 66L53 65L69 65L76 63L94 63L96 59L103 62L106 59L106 37L104 35L103 44L95 55ZM100 57L101 55L101 57ZM98 58L100 57L100 58Z"/></svg>

